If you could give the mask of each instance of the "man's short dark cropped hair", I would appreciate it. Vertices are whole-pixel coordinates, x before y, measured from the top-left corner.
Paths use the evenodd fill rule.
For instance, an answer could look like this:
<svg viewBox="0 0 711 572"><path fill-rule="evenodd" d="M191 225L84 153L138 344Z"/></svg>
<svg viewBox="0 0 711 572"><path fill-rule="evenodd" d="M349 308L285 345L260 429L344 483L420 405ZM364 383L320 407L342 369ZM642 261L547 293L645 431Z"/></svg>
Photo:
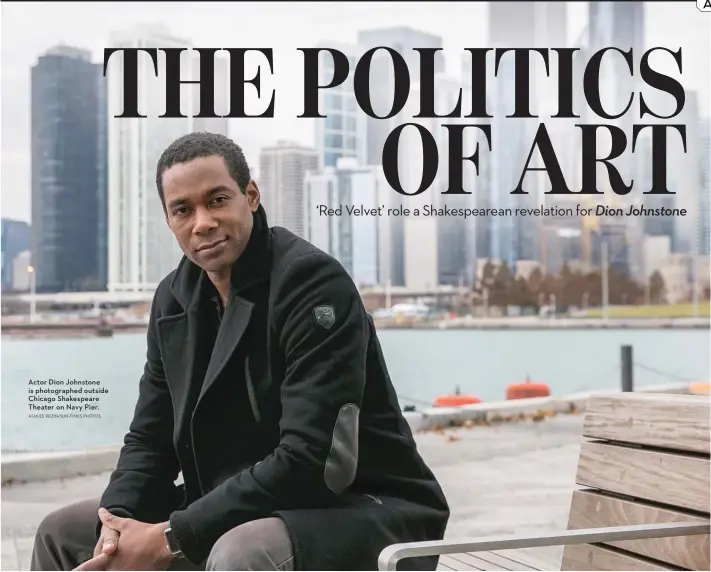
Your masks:
<svg viewBox="0 0 711 572"><path fill-rule="evenodd" d="M188 163L198 157L212 157L213 155L224 159L227 171L239 186L240 191L243 194L247 193L247 185L251 176L242 148L229 137L218 133L188 133L173 141L158 159L156 186L163 209L165 209L163 173L175 164Z"/></svg>

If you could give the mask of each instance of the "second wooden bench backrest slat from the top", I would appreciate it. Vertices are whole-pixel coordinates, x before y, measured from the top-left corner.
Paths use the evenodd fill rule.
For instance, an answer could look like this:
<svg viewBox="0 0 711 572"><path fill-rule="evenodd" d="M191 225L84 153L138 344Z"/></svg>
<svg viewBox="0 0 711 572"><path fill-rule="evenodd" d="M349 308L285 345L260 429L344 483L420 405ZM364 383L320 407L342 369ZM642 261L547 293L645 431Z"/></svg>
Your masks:
<svg viewBox="0 0 711 572"><path fill-rule="evenodd" d="M579 485L709 513L708 458L584 442Z"/></svg>

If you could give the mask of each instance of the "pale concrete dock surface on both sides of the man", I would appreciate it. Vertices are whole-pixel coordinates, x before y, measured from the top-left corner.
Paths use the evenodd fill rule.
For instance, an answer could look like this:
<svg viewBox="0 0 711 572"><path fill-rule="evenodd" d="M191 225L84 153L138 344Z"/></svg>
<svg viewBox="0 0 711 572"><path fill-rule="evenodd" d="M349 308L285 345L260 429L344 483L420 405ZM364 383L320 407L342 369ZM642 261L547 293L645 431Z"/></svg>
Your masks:
<svg viewBox="0 0 711 572"><path fill-rule="evenodd" d="M416 433L451 507L447 538L562 531L575 488L582 416ZM28 570L47 513L98 497L108 473L2 488L1 570ZM541 569L560 570L562 548L537 548Z"/></svg>

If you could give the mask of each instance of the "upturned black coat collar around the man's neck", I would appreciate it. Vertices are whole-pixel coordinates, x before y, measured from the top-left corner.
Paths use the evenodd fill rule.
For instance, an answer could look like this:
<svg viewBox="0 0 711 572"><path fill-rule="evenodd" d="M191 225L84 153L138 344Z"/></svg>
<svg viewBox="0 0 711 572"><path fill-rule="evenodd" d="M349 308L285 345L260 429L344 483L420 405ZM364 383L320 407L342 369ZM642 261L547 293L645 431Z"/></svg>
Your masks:
<svg viewBox="0 0 711 572"><path fill-rule="evenodd" d="M267 214L260 204L254 213L254 226L242 255L232 266L230 282L232 293L268 279L271 268L271 233ZM170 288L175 299L188 309L201 299L210 287L207 273L187 256L183 256L175 270Z"/></svg>

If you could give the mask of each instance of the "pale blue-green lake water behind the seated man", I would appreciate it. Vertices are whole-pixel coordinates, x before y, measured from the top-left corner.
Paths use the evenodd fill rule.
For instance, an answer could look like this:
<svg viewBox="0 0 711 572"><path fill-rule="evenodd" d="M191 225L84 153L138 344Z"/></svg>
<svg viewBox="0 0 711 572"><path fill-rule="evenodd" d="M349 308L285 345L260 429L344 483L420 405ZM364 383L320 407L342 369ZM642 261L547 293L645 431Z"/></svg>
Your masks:
<svg viewBox="0 0 711 572"><path fill-rule="evenodd" d="M708 381L708 330L381 330L403 405L432 403L460 386L483 401L509 383L547 383L553 395L620 386L620 347L633 346L636 386ZM133 415L145 334L113 338L2 338L2 451L120 445ZM30 380L98 380L100 418L30 417ZM47 386L44 386L46 389ZM88 396L87 394L84 394Z"/></svg>

